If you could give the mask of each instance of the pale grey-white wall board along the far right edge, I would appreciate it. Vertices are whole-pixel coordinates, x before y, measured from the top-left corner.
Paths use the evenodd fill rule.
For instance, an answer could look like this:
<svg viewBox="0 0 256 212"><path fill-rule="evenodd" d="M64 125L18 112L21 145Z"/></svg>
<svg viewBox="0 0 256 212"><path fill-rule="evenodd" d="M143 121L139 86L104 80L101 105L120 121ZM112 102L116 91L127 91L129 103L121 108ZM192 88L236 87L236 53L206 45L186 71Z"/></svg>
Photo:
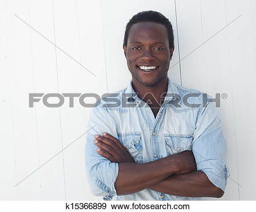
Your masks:
<svg viewBox="0 0 256 212"><path fill-rule="evenodd" d="M255 13L250 1L225 1L226 20L242 14L237 23L228 28L230 69L232 73L232 91L234 124L236 128L237 163L240 188L240 200L255 200L256 145L255 145ZM254 40L253 40L254 39Z"/></svg>

